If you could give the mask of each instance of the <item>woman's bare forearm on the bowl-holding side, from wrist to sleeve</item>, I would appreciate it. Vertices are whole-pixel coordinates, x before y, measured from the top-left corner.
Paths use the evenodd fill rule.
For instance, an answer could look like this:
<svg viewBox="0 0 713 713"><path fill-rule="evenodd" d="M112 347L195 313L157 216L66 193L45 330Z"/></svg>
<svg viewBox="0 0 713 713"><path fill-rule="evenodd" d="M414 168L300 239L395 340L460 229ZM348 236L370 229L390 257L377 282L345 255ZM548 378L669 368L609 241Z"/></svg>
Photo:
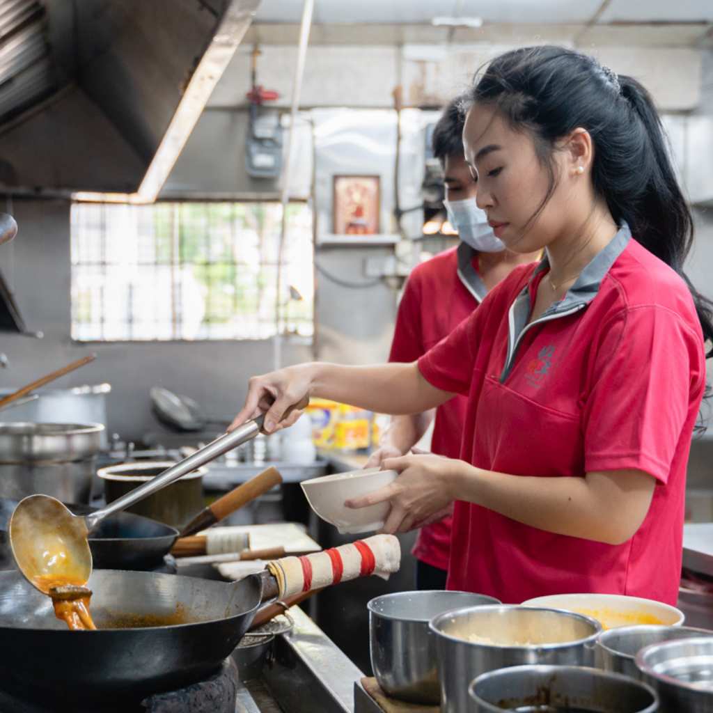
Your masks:
<svg viewBox="0 0 713 713"><path fill-rule="evenodd" d="M452 495L533 528L619 545L636 532L655 480L642 471L588 473L583 478L528 477L483 471L458 461Z"/></svg>

